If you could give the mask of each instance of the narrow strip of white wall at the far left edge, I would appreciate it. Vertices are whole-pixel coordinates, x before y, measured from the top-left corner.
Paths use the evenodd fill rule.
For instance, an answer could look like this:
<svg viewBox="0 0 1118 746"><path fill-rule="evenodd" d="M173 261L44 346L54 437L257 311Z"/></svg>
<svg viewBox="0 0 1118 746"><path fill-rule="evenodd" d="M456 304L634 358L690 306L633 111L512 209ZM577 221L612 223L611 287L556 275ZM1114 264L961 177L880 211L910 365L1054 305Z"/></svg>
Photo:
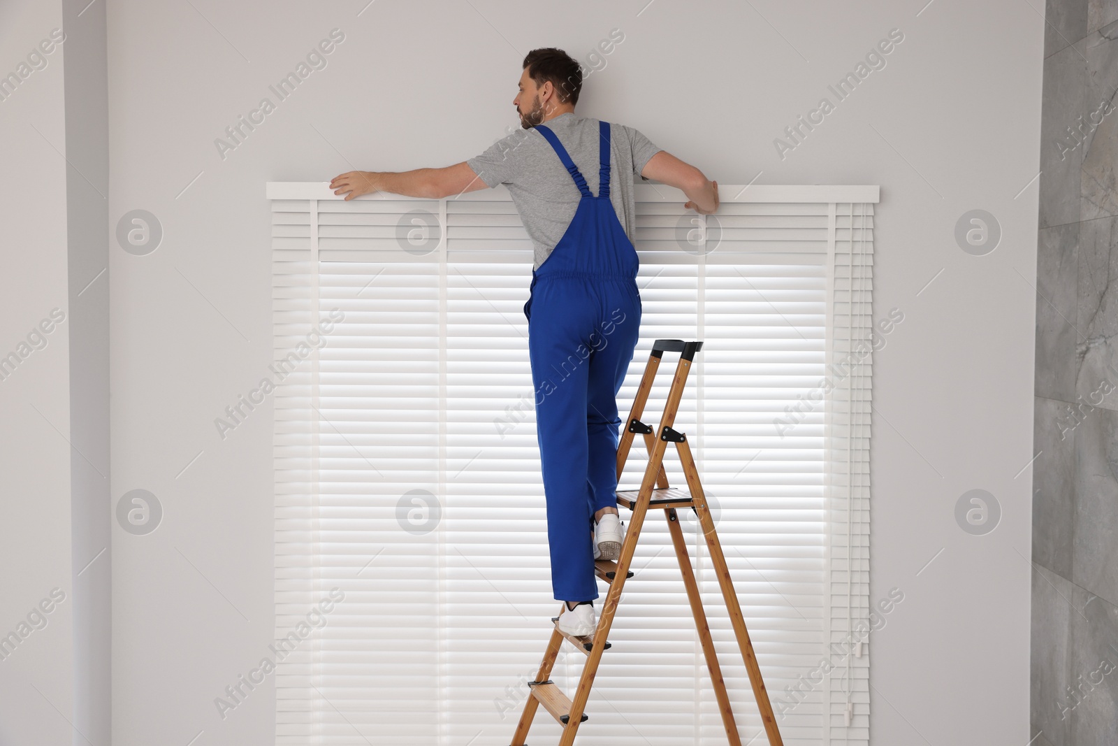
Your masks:
<svg viewBox="0 0 1118 746"><path fill-rule="evenodd" d="M27 63L61 26L60 3L0 4L0 72ZM0 638L26 635L0 660L2 744L73 738L64 50L46 47L46 66L36 63L40 68L0 101L0 357L26 355L0 380ZM65 315L60 324L50 322L54 309ZM50 333L35 336L45 319ZM50 597L55 588L60 603ZM40 602L50 610L41 616Z"/></svg>

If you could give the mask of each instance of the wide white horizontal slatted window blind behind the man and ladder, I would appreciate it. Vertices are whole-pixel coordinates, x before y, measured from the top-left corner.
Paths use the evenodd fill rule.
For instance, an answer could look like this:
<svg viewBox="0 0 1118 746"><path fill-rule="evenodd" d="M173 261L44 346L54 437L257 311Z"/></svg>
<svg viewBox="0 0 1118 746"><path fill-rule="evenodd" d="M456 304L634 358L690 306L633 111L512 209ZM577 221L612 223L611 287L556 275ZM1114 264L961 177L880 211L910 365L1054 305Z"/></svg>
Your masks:
<svg viewBox="0 0 1118 746"><path fill-rule="evenodd" d="M869 608L871 365L850 352L872 323L878 188L720 192L719 213L699 216L679 190L636 185L644 312L618 409L654 339L703 340L676 429L784 740L864 744L868 646L819 683L812 672ZM287 361L274 397L277 743L508 743L559 610L522 312L531 242L503 187L344 201L275 182L268 197ZM851 374L817 396L844 361ZM646 422L669 385L661 371ZM642 451L622 489L638 485ZM665 465L684 485L671 448ZM742 742L765 743L702 537L681 518ZM659 511L634 570L579 743L726 743ZM565 650L551 679L572 692L584 661ZM529 743L558 737L541 709Z"/></svg>

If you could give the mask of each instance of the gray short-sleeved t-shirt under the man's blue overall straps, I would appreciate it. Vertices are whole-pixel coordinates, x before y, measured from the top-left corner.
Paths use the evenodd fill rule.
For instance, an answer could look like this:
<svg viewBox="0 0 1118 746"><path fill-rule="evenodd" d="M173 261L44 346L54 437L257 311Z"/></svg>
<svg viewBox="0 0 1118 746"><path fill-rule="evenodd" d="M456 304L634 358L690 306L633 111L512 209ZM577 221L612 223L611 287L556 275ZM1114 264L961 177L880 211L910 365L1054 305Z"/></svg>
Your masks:
<svg viewBox="0 0 1118 746"><path fill-rule="evenodd" d="M598 120L565 112L544 124L575 161L590 193L598 192L600 145ZM624 124L609 123L609 201L629 240L636 232L636 205L633 177L661 149L639 131ZM536 248L534 268L543 264L551 249L567 232L582 195L544 136L534 131L519 130L498 140L475 158L466 161L474 173L490 188L508 185L520 219ZM642 179L644 177L641 177ZM647 181L647 179L645 179Z"/></svg>

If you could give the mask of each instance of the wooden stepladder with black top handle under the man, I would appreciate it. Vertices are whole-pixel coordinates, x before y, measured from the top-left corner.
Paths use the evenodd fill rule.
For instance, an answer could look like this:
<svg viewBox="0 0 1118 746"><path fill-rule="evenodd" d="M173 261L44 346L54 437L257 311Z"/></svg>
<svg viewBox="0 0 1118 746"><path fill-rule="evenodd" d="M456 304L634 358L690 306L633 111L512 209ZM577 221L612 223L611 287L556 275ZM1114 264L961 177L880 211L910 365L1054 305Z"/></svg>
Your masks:
<svg viewBox="0 0 1118 746"><path fill-rule="evenodd" d="M540 663L539 673L536 681L530 681L531 695L524 702L524 711L517 724L517 731L512 736L511 746L524 746L524 738L532 726L536 710L542 703L562 726L562 736L559 746L572 746L575 734L578 731L580 723L587 719L584 714L587 700L590 697L590 687L594 684L594 676L597 673L598 663L601 661L601 653L609 648L606 636L617 612L617 602L620 598L625 580L633 576L629 565L633 561L633 554L636 550L637 538L641 535L641 527L644 525L644 517L650 508L662 508L664 517L667 519L667 528L672 535L672 545L675 547L675 556L680 563L680 570L683 573L683 585L686 588L688 601L691 604L691 613L699 630L699 640L702 643L703 657L707 659L707 668L710 670L710 680L714 686L714 696L718 698L719 711L722 714L722 725L726 727L726 735L731 746L741 746L741 738L738 735L738 726L733 720L733 711L730 709L730 699L726 693L726 682L722 680L722 672L718 664L718 657L714 653L714 642L710 635L710 627L707 625L707 614L702 607L702 599L699 596L699 585L695 582L694 572L691 569L691 559L688 556L686 542L683 539L683 530L675 513L676 508L692 509L702 526L703 537L707 539L707 547L710 550L710 558L718 573L718 583L726 599L726 607L733 625L733 634L741 649L741 657L746 662L746 670L749 673L749 683L754 689L754 698L760 709L761 720L768 735L769 746L783 746L780 731L773 717L773 706L769 702L768 691L761 680L761 671L757 665L757 658L754 655L754 645L749 641L749 632L746 631L746 622L741 614L741 606L738 604L738 596L733 591L733 583L730 579L730 572L726 566L726 556L722 554L722 546L719 544L718 535L714 532L714 521L707 507L707 501L699 482L699 472L695 469L694 459L691 455L691 446L688 444L686 435L672 428L675 423L675 413L679 409L680 400L683 397L683 387L686 384L688 372L694 360L695 352L702 349L702 342L684 342L679 339L657 339L652 346L652 353L648 356L648 365L644 369L641 386L633 400L633 408L629 410L627 427L622 433L617 447L617 479L620 480L622 471L625 469L625 461L628 457L629 447L633 445L633 437L637 433L644 435L645 447L648 451L648 464L644 471L644 479L639 490L619 490L617 492L617 504L633 511L625 531L625 540L622 544L620 557L617 561L598 559L594 563L595 574L609 584L606 593L606 601L598 616L598 627L593 635L575 638L561 632L556 625L548 642L547 651ZM667 394L667 402L664 405L664 413L660 419L660 427L653 432L650 425L641 422L644 413L644 405L652 390L653 380L656 377L656 369L660 367L660 359L664 352L679 352L680 361L675 368L675 377L672 379L672 387ZM659 437L656 436L659 434ZM679 490L667 485L667 475L664 472L664 452L667 444L674 443L683 466L683 473L688 481L688 491ZM560 606L560 613L561 613ZM558 616L552 621L558 622ZM555 665L559 654L559 648L563 639L574 644L578 650L587 655L582 676L575 691L575 699L569 699L558 686L552 683L548 677Z"/></svg>

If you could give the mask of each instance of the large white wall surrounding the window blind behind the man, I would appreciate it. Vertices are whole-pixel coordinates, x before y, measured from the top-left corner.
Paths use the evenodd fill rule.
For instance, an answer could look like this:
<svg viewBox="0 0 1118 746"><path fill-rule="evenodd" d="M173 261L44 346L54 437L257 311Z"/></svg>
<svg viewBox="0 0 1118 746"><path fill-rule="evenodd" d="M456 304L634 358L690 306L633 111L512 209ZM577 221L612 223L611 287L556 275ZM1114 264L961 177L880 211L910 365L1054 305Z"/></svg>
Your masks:
<svg viewBox="0 0 1118 746"><path fill-rule="evenodd" d="M580 114L636 126L722 183L881 185L874 315L897 306L904 321L874 361L871 597L906 598L872 639L873 742L1027 742L1031 474L1015 475L1033 455L1041 17L1008 0L919 16L891 2L582 0L562 18L555 3L363 4L108 8L111 228L138 208L163 228L146 256L111 252L112 499L142 488L164 510L150 535L114 535L114 742L274 730L267 687L224 720L214 706L273 632L271 410L225 441L212 424L272 360L264 183L462 161L515 123L529 49L585 59L615 27L625 40ZM219 157L215 139L335 27L328 67ZM774 139L893 28L904 40L887 66L781 160ZM1003 228L987 256L955 243L974 208ZM954 518L973 488L1003 509L987 536Z"/></svg>

